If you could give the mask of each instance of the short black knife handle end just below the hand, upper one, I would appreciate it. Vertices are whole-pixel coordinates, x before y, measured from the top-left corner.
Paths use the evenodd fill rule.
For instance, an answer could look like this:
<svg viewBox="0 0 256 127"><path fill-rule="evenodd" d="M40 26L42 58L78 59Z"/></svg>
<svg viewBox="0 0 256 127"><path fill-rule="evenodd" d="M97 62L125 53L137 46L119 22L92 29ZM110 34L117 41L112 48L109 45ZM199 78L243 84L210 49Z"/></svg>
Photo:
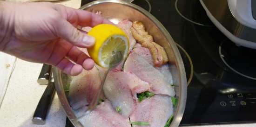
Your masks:
<svg viewBox="0 0 256 127"><path fill-rule="evenodd" d="M40 75L38 76L37 83L40 85L47 85L49 83L49 78L52 74L52 66L48 64L43 64Z"/></svg>

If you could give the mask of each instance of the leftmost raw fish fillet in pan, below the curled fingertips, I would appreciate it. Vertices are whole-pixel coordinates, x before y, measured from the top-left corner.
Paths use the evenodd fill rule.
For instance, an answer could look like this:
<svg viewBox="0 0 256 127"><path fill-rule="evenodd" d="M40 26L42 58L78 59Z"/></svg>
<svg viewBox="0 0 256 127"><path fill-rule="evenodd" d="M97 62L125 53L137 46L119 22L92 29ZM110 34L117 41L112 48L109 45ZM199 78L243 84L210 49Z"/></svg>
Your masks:
<svg viewBox="0 0 256 127"><path fill-rule="evenodd" d="M74 76L70 83L68 99L71 107L76 110L87 106L96 94L101 84L99 70L83 70L78 76Z"/></svg>

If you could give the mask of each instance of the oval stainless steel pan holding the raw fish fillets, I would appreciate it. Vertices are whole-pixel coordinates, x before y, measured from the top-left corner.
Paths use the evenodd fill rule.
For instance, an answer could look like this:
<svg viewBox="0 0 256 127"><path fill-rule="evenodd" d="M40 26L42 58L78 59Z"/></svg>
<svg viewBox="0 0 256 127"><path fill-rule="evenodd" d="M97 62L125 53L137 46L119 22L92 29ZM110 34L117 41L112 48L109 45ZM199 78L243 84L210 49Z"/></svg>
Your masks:
<svg viewBox="0 0 256 127"><path fill-rule="evenodd" d="M186 105L187 80L180 52L178 51L173 38L164 26L143 8L124 0L97 0L82 6L80 9L87 11L101 11L103 17L114 22L118 22L123 19L141 21L145 25L149 34L154 37L155 42L164 47L169 58L176 97L179 100L178 106L175 108L174 119L170 127L178 127L182 120L182 115ZM62 73L57 68L54 68L54 81L57 94L67 117L75 127L82 127L77 121L77 118L67 100L67 93L65 94L64 91L64 89L67 88L68 82L70 82L69 76Z"/></svg>

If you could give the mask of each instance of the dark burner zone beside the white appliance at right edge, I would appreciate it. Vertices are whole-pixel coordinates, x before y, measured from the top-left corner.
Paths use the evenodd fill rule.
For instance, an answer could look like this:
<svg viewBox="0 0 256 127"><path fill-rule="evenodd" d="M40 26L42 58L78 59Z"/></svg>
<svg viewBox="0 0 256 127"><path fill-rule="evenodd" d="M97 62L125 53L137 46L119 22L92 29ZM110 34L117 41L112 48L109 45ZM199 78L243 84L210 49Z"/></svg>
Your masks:
<svg viewBox="0 0 256 127"><path fill-rule="evenodd" d="M237 46L225 39L219 46L219 55L227 68L240 76L256 80L256 50Z"/></svg>

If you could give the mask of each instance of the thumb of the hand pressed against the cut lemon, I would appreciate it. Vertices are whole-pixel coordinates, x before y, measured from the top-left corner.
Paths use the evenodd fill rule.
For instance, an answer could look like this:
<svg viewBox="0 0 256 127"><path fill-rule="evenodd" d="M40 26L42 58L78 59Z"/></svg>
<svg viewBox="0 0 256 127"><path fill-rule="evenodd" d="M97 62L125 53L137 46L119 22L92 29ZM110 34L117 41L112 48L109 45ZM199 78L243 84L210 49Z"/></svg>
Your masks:
<svg viewBox="0 0 256 127"><path fill-rule="evenodd" d="M67 20L63 19L58 23L57 36L69 41L78 47L88 48L94 45L95 38L79 31Z"/></svg>

